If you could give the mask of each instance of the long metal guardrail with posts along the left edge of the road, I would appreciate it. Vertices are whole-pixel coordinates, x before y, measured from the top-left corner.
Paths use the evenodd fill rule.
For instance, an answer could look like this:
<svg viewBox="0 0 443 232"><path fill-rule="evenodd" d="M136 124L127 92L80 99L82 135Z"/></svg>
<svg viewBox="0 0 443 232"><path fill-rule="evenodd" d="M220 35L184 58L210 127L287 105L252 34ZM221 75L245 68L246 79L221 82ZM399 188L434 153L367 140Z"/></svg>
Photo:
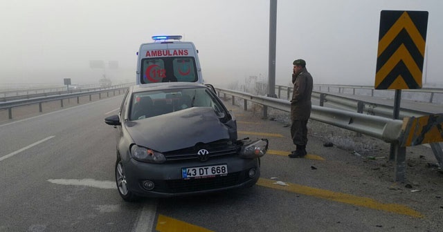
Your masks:
<svg viewBox="0 0 443 232"><path fill-rule="evenodd" d="M92 100L92 95L98 95L99 98L101 98L102 93L107 93L107 97L109 97L109 92L114 92L114 95L116 95L116 91L118 91L118 94L121 94L121 91L125 91L128 86L132 84L126 84L125 87L122 88L108 88L105 90L95 90L95 91L89 91L89 92L82 92L82 93L68 93L64 95L53 95L48 97L35 97L30 99L19 99L15 101L6 101L6 102L0 102L0 110L8 110L8 118L12 119L12 108L19 107L19 106L28 106L32 104L39 104L39 112L42 112L42 104L44 102L48 101L59 101L60 100L60 107L63 107L63 100L64 99L71 99L71 98L77 98L77 103L80 103L80 97L89 96L89 101Z"/></svg>

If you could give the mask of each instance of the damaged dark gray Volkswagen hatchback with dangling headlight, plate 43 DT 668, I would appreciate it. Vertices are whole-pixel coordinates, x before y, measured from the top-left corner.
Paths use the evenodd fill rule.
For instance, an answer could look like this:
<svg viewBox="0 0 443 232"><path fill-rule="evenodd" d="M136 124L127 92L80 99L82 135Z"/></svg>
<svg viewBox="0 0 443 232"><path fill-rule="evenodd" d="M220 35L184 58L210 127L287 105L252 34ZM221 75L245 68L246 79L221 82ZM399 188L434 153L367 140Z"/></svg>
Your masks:
<svg viewBox="0 0 443 232"><path fill-rule="evenodd" d="M116 184L123 200L253 186L267 139L237 139L237 123L211 86L129 88L118 115Z"/></svg>

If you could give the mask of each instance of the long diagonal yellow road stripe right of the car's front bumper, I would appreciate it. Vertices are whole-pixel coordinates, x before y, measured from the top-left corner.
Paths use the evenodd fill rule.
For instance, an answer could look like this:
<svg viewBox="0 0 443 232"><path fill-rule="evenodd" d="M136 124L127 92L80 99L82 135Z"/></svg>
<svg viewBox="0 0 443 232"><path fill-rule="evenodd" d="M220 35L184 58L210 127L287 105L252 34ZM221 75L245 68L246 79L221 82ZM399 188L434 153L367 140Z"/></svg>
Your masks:
<svg viewBox="0 0 443 232"><path fill-rule="evenodd" d="M286 183L289 184L288 186L280 186L278 184L273 184L274 182L274 180L260 178L257 182L257 185L264 186L266 188L278 189L291 193L300 193L302 195L309 195L312 197L332 200L334 202L352 204L354 206L363 206L369 209L377 209L381 211L388 211L390 213L408 215L414 218L423 218L423 215L421 213L401 204L384 204L381 202L377 202L377 200L371 199L369 197L358 197L356 195L350 195L347 193L338 193L325 189L316 189L309 186L302 186L300 184L292 184L287 182Z"/></svg>

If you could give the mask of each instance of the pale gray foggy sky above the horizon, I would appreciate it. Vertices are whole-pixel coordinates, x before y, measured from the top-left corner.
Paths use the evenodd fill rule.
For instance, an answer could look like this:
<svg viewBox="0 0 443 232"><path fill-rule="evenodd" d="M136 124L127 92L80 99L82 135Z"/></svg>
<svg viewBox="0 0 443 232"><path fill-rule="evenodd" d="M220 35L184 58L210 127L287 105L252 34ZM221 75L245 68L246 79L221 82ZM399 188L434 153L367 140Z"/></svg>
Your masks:
<svg viewBox="0 0 443 232"><path fill-rule="evenodd" d="M442 84L441 0L278 0L276 83L289 84L301 58L316 84L374 85L381 10L429 12L423 83ZM2 1L0 32L3 86L135 81L136 52L152 35L193 41L215 86L268 76L269 0ZM90 68L97 60L105 69Z"/></svg>

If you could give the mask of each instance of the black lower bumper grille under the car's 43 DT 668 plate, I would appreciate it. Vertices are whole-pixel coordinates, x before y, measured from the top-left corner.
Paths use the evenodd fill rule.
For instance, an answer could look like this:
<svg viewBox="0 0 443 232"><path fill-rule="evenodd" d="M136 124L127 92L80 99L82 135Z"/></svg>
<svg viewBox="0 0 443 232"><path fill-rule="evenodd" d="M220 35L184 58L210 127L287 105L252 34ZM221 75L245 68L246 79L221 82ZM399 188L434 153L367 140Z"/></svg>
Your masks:
<svg viewBox="0 0 443 232"><path fill-rule="evenodd" d="M229 173L225 176L201 178L192 180L166 180L166 186L170 193L188 193L205 191L210 189L221 189L239 184L240 172ZM244 179L244 178L242 178ZM156 191L161 191L156 189Z"/></svg>

